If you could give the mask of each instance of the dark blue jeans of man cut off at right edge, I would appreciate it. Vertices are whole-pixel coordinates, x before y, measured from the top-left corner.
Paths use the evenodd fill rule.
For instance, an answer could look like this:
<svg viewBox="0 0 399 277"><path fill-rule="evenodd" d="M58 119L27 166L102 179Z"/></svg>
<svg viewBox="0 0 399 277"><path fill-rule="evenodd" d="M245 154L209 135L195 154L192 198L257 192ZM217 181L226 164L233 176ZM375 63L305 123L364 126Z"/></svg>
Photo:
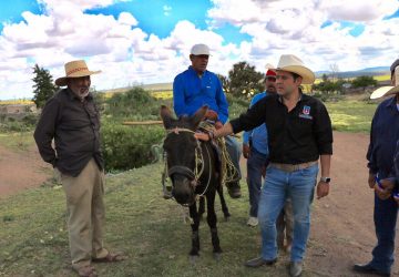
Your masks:
<svg viewBox="0 0 399 277"><path fill-rule="evenodd" d="M378 242L370 265L383 273L390 273L393 264L398 204L392 198L381 201L375 195L374 220Z"/></svg>

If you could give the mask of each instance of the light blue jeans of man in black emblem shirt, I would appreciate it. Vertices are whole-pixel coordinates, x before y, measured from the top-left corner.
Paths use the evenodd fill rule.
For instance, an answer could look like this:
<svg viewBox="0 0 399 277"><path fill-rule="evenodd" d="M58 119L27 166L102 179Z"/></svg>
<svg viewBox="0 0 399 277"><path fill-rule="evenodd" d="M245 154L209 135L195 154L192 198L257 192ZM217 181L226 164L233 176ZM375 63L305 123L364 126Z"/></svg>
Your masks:
<svg viewBox="0 0 399 277"><path fill-rule="evenodd" d="M262 257L270 260L277 257L276 219L289 197L294 213L294 240L291 261L301 261L310 229L310 204L314 197L318 165L305 170L285 172L269 165L263 186L258 219L262 230Z"/></svg>

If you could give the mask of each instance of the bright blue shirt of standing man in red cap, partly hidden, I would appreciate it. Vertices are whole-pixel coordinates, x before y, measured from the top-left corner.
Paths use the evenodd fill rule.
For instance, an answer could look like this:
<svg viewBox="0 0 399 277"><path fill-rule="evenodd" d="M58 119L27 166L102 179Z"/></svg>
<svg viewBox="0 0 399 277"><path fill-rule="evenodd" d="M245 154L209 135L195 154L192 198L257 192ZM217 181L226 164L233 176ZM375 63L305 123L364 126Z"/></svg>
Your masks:
<svg viewBox="0 0 399 277"><path fill-rule="evenodd" d="M254 104L256 104L260 99L264 99L265 96L269 95L266 91L260 92L256 94L249 104L249 107L252 107ZM243 143L248 145L249 140L252 142L252 147L254 147L257 152L268 155L268 142L267 142L267 127L266 124L262 124L260 126L257 126L253 130L244 132L243 135Z"/></svg>

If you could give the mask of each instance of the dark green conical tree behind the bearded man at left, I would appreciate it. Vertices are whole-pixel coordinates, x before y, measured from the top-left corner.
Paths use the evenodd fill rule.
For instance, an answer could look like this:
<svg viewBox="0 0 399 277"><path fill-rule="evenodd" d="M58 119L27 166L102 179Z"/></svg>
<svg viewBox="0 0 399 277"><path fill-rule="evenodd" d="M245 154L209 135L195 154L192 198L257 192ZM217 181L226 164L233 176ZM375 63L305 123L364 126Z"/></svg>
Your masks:
<svg viewBox="0 0 399 277"><path fill-rule="evenodd" d="M53 84L50 72L43 68L39 68L38 64L34 64L33 74L35 74L32 79L34 82L32 86L34 94L33 102L37 107L43 107L45 102L54 95L59 88Z"/></svg>

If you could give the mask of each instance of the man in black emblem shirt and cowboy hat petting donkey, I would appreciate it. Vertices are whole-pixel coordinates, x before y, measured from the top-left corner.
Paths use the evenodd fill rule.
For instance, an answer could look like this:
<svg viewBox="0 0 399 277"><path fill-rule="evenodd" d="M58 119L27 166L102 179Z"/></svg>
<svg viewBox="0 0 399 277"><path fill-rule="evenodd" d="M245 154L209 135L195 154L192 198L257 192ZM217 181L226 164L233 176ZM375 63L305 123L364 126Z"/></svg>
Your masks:
<svg viewBox="0 0 399 277"><path fill-rule="evenodd" d="M262 255L245 265L259 267L276 263L276 219L289 197L294 212L289 275L299 276L310 229L310 204L317 183L318 160L321 178L317 185L317 198L329 193L332 129L325 105L304 94L299 88L301 83L311 84L314 73L290 54L280 57L276 71L277 95L262 99L213 135L248 131L266 123L270 163L258 206ZM205 135L196 136L206 140Z"/></svg>

